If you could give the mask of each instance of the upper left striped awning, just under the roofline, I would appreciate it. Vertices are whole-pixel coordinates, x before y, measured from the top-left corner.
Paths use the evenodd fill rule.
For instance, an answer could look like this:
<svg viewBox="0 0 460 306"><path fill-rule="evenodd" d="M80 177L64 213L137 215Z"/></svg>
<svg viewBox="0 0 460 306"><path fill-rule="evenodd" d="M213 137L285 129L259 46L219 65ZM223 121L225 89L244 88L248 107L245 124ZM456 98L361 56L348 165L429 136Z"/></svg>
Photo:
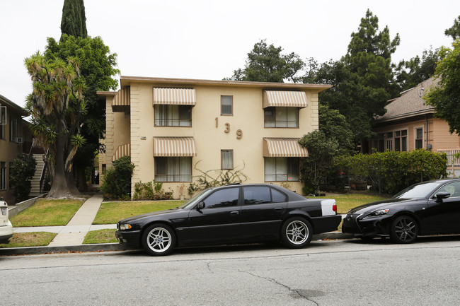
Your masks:
<svg viewBox="0 0 460 306"><path fill-rule="evenodd" d="M197 97L193 88L157 88L154 87L154 105L195 105Z"/></svg>

